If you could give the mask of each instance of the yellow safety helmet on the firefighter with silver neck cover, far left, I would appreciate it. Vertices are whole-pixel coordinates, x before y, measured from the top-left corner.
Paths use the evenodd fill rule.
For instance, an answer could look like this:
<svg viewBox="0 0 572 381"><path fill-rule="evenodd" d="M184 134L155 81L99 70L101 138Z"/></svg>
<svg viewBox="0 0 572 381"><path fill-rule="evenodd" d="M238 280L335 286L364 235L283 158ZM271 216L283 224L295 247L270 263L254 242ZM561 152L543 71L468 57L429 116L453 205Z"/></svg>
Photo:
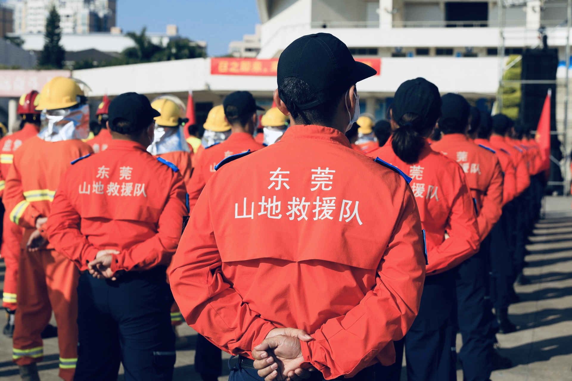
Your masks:
<svg viewBox="0 0 572 381"><path fill-rule="evenodd" d="M68 109L81 102L84 91L72 78L54 77L42 87L36 110Z"/></svg>

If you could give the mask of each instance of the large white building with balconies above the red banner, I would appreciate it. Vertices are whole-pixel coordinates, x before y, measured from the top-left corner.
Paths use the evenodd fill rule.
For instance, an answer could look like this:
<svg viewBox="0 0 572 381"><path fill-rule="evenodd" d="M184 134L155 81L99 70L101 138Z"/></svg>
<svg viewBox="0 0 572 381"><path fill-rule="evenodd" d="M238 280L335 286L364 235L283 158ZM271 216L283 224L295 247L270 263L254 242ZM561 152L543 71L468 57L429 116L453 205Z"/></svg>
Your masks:
<svg viewBox="0 0 572 381"><path fill-rule="evenodd" d="M513 1L505 9L507 54L538 44L547 28L549 45L566 44L566 0ZM336 35L356 57L495 56L499 46L496 1L442 0L257 0L259 58L279 57L290 42L320 31Z"/></svg>

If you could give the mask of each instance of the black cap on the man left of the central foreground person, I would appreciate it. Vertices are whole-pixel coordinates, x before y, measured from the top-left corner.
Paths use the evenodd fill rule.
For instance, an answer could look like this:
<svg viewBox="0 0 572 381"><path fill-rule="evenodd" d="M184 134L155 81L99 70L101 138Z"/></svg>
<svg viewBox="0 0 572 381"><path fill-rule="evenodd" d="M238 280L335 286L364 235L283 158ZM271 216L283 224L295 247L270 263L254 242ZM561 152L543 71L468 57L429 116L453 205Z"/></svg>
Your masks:
<svg viewBox="0 0 572 381"><path fill-rule="evenodd" d="M160 117L161 113L151 107L145 95L137 93L124 93L118 95L109 103L109 128L120 134L134 133L145 129L153 122L153 118ZM116 127L119 119L131 122L131 127Z"/></svg>

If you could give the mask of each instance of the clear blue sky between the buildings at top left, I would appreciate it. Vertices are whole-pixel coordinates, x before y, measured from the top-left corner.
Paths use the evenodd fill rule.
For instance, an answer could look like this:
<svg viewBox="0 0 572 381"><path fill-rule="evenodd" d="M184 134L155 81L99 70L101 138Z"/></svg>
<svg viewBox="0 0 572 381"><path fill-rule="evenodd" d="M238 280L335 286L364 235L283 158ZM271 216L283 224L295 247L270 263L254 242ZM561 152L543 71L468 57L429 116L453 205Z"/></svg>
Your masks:
<svg viewBox="0 0 572 381"><path fill-rule="evenodd" d="M179 34L206 41L209 55L228 53L228 43L253 34L260 23L255 0L117 0L117 26L126 31L164 32L176 24Z"/></svg>

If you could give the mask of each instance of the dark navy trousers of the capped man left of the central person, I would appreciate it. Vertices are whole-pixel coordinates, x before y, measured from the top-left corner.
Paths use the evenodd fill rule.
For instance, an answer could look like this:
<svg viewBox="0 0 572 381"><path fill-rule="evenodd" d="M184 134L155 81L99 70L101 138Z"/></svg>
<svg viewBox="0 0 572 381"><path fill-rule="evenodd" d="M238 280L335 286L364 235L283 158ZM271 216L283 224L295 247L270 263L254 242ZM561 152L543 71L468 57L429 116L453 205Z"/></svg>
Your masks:
<svg viewBox="0 0 572 381"><path fill-rule="evenodd" d="M116 281L84 272L78 284L78 361L74 380L171 380L175 336L166 268L126 272Z"/></svg>

